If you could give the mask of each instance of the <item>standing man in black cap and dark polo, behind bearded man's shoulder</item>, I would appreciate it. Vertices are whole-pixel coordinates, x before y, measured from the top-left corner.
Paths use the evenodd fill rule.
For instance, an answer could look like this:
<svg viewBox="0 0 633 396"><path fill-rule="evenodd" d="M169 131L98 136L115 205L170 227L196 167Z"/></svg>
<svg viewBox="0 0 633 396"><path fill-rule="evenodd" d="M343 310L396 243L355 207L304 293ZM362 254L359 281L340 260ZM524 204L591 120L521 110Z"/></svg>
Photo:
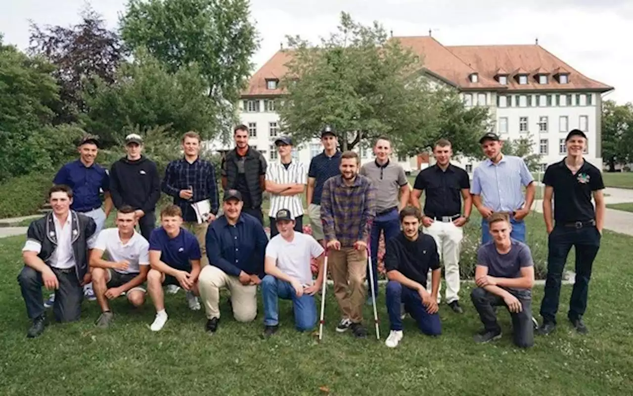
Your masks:
<svg viewBox="0 0 633 396"><path fill-rule="evenodd" d="M321 131L323 152L312 158L308 168L308 188L306 188L306 203L312 236L323 244L323 224L321 223L321 194L323 183L332 176L341 174L341 151L337 150L339 141L336 132L330 126Z"/></svg>

